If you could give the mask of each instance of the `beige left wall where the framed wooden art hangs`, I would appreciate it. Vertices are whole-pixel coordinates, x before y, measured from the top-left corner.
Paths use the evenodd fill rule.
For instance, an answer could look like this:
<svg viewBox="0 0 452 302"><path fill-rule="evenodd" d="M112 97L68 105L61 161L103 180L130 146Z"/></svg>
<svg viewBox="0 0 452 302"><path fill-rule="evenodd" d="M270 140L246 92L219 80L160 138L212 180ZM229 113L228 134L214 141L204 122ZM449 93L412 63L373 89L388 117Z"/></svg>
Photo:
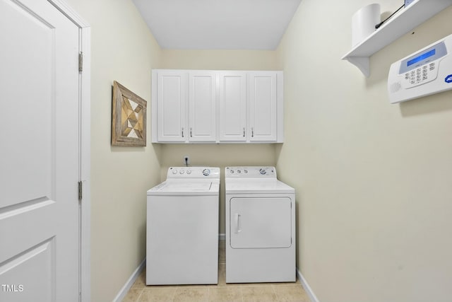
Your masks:
<svg viewBox="0 0 452 302"><path fill-rule="evenodd" d="M145 192L160 146L110 145L112 84L148 101L160 47L132 1L66 0L91 25L91 301L110 302L145 257Z"/></svg>

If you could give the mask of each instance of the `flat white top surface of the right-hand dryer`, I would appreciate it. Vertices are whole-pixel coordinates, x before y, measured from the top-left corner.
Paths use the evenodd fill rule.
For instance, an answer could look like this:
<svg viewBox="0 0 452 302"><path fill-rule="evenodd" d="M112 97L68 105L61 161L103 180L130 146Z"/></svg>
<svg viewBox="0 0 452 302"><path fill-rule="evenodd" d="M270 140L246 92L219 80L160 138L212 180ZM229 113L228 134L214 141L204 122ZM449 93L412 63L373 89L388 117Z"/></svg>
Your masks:
<svg viewBox="0 0 452 302"><path fill-rule="evenodd" d="M227 179L227 194L295 193L295 189L276 179Z"/></svg>

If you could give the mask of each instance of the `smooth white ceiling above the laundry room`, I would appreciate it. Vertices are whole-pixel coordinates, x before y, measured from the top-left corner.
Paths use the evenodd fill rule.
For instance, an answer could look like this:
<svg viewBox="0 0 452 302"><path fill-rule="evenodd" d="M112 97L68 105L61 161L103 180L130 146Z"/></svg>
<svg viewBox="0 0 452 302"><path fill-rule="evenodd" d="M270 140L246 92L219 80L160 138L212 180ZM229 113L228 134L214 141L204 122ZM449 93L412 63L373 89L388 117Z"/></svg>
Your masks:
<svg viewBox="0 0 452 302"><path fill-rule="evenodd" d="M275 50L301 0L133 0L165 49Z"/></svg>

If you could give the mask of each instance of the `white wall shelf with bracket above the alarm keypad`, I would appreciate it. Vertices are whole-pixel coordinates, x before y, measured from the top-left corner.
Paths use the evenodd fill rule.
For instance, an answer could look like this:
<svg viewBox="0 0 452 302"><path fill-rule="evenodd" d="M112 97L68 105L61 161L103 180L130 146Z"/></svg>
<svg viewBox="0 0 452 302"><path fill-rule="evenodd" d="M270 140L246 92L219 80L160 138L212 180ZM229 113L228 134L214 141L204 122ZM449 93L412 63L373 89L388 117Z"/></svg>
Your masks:
<svg viewBox="0 0 452 302"><path fill-rule="evenodd" d="M383 23L367 39L353 47L342 59L354 64L364 76L369 77L369 57L372 54L391 44L394 40L397 40L450 5L452 5L452 0L415 0Z"/></svg>

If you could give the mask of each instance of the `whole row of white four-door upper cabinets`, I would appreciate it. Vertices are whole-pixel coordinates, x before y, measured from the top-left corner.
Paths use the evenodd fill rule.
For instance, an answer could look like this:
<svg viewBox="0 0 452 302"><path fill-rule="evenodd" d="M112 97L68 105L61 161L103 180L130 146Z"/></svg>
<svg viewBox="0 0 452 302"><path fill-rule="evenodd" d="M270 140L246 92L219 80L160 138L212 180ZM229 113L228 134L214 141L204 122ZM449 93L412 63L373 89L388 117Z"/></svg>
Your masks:
<svg viewBox="0 0 452 302"><path fill-rule="evenodd" d="M283 142L283 71L153 70L152 141Z"/></svg>

